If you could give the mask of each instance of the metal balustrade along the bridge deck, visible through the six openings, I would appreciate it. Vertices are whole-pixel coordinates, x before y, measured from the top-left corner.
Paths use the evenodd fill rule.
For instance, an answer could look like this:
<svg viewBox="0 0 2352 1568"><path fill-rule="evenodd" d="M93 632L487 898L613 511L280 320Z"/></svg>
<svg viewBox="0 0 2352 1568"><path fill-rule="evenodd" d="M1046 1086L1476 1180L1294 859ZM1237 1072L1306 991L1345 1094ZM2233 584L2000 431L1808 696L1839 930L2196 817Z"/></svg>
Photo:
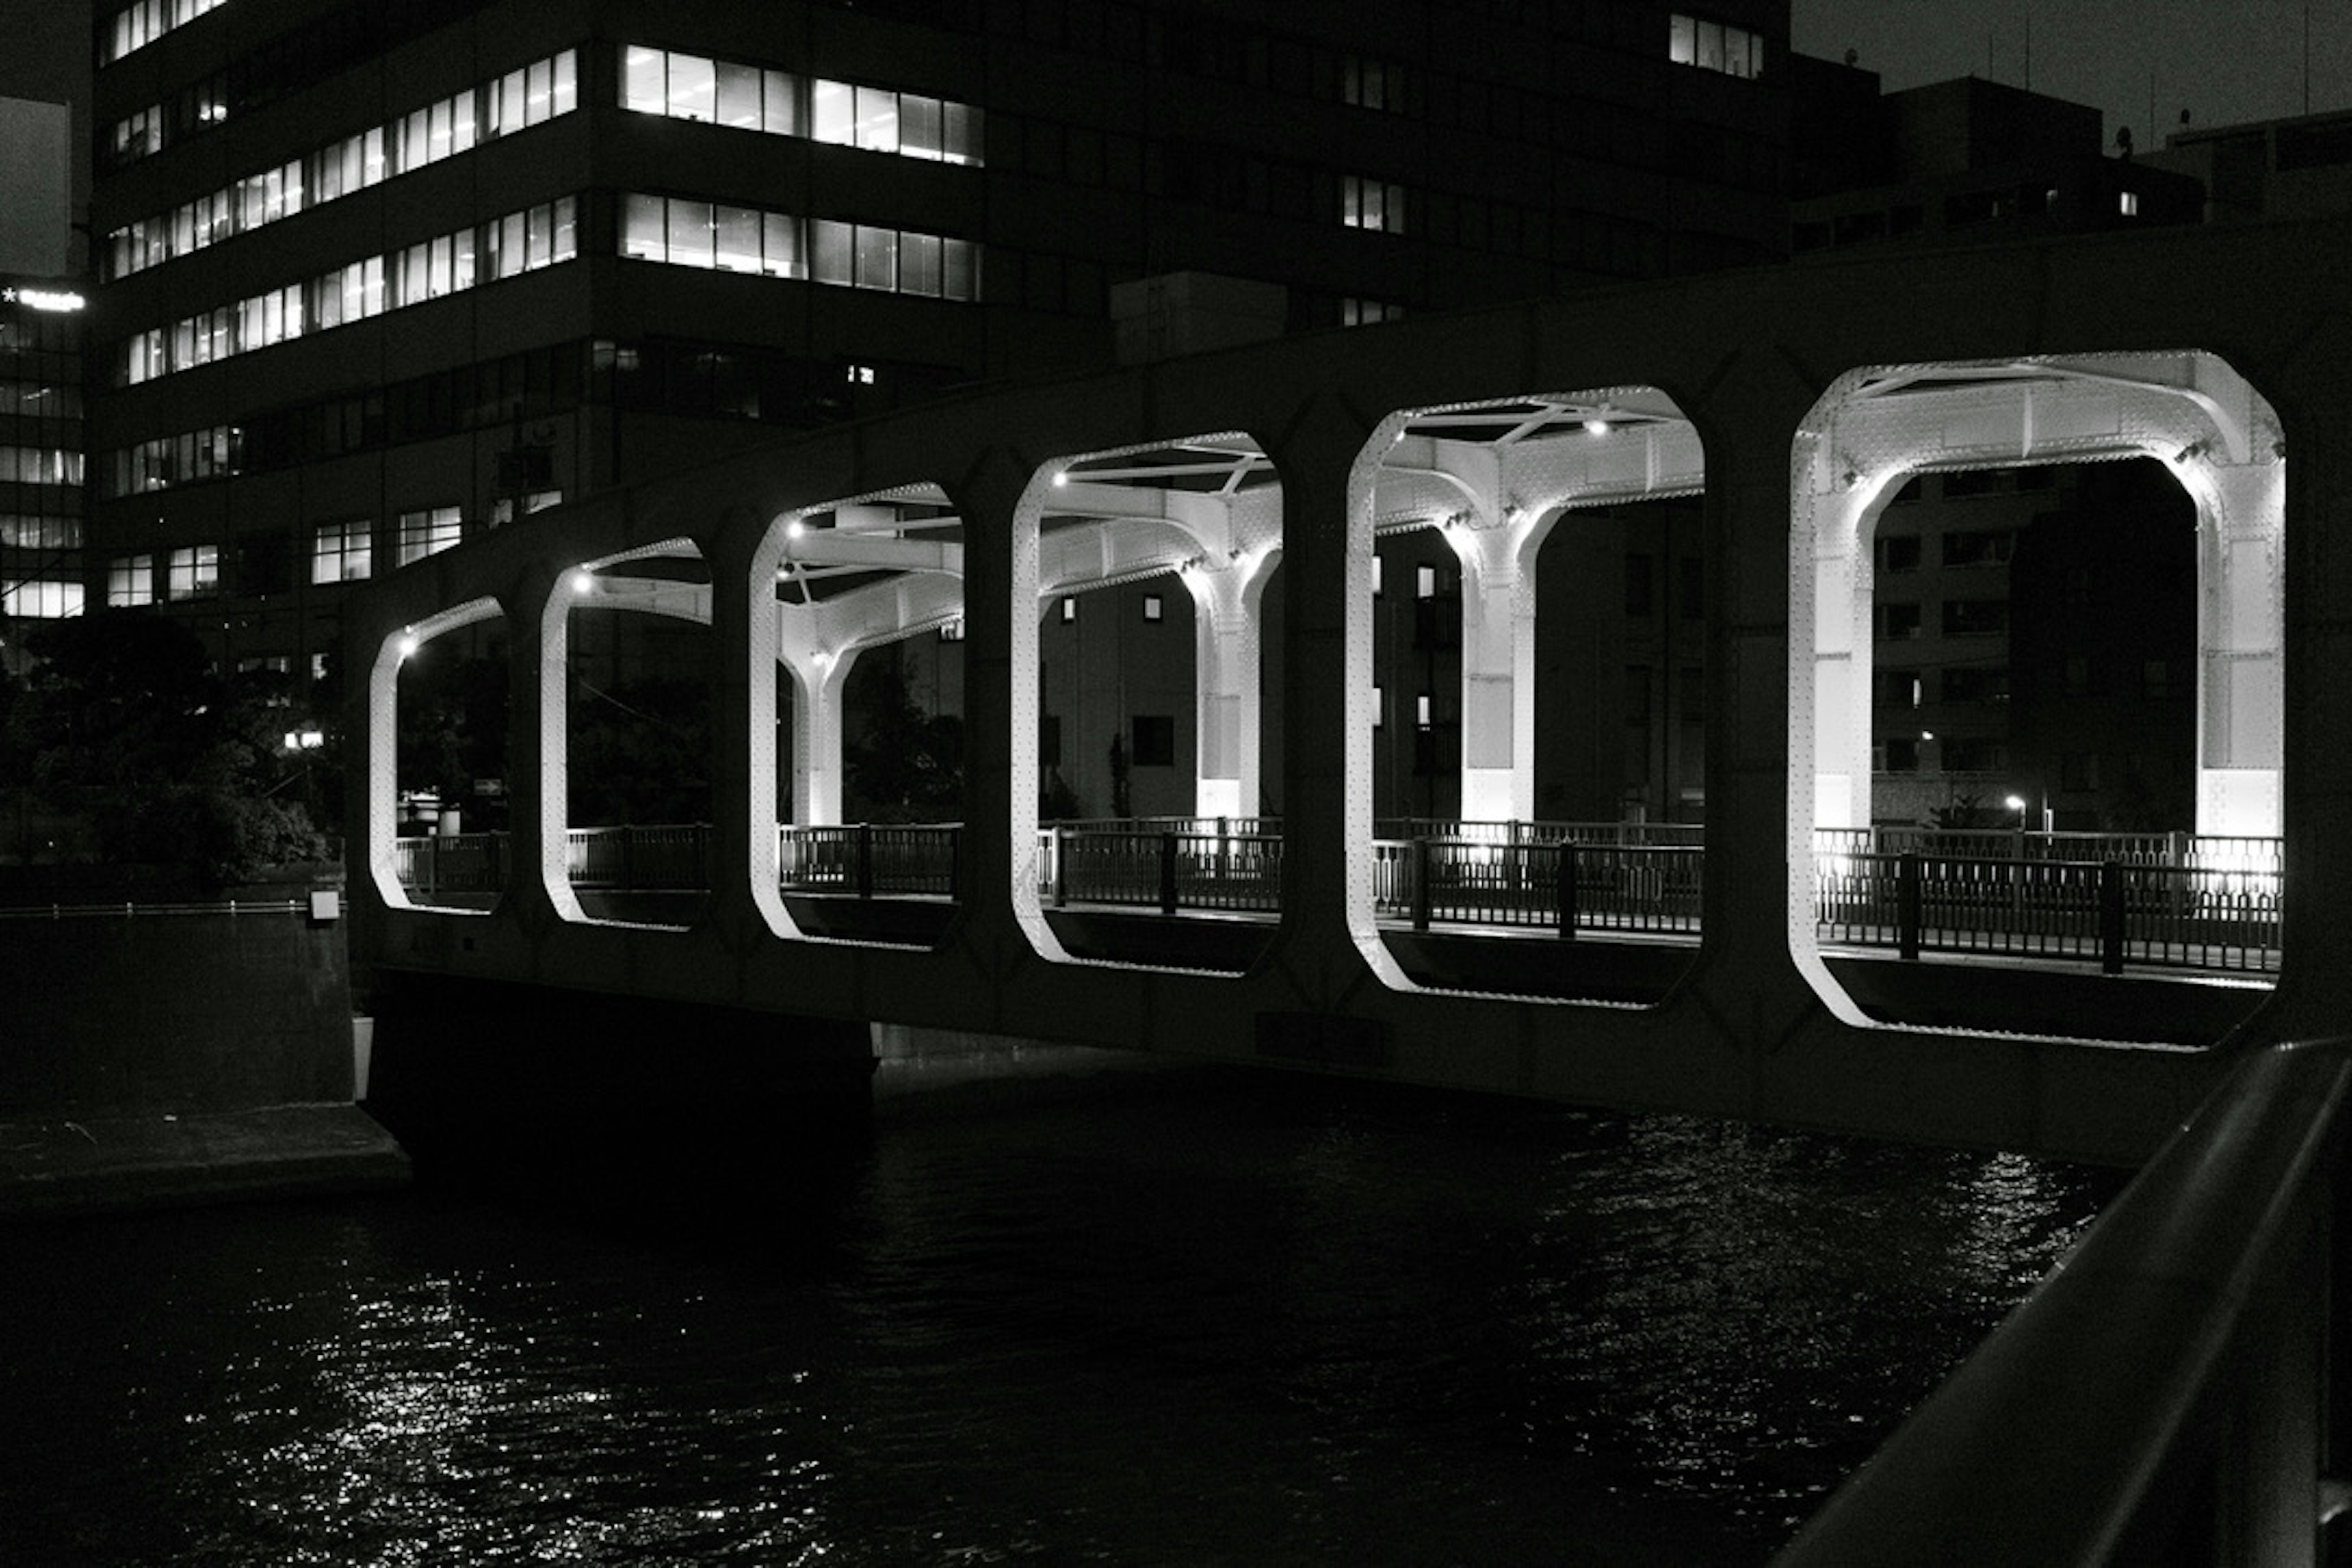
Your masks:
<svg viewBox="0 0 2352 1568"><path fill-rule="evenodd" d="M1056 907L1282 910L1272 818L1051 823L1040 896ZM1691 938L1705 882L1689 823L1463 823L1409 818L1374 842L1374 910L1388 922ZM790 893L955 898L955 823L779 827ZM506 835L397 839L419 903L480 903L508 879ZM708 825L574 827L579 889L699 891ZM2039 961L2279 966L2279 839L1999 830L1825 827L1813 835L1820 940Z"/></svg>

